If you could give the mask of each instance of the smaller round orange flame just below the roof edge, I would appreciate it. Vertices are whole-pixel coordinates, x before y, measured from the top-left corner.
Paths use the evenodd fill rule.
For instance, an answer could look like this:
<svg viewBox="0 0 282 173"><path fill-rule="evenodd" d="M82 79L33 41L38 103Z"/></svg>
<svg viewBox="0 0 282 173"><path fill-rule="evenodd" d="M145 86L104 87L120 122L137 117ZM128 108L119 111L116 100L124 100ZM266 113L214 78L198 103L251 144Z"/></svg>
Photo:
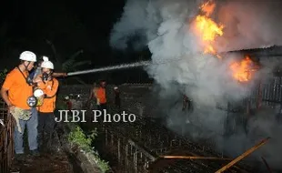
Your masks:
<svg viewBox="0 0 282 173"><path fill-rule="evenodd" d="M255 63L249 56L245 56L240 62L232 63L230 68L233 72L233 77L239 82L249 81L253 76L253 72L257 71L257 66L255 66Z"/></svg>

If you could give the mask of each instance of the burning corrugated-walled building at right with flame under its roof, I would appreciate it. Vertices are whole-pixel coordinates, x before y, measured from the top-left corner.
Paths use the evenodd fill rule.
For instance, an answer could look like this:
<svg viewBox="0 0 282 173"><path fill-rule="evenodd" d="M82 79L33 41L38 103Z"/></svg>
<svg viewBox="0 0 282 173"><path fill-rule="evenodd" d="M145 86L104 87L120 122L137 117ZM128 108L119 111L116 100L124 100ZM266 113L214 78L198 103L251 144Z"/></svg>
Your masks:
<svg viewBox="0 0 282 173"><path fill-rule="evenodd" d="M259 76L255 78L255 73L259 71L259 67L263 67L260 61L273 61L277 56L282 56L281 46L271 46L267 48L257 48L249 50L240 50L237 53L247 55L246 58L239 63L231 66L233 76L242 83L249 85L251 80L255 80L255 85L247 93L246 97L239 103L227 102L226 109L228 112L240 112L244 116L251 117L260 109L269 107L275 109L275 114L278 116L281 113L281 74L279 65L271 71L271 75ZM256 60L251 60L250 56L256 57ZM252 61L256 61L256 66L252 65ZM249 69L251 68L251 69ZM222 107L218 107L222 108Z"/></svg>

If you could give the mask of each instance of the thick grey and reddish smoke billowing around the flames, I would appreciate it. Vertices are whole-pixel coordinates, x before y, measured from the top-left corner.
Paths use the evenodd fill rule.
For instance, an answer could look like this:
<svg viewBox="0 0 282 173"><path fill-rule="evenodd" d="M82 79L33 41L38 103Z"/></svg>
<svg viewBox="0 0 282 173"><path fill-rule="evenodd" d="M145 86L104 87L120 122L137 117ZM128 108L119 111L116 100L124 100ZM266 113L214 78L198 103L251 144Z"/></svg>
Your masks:
<svg viewBox="0 0 282 173"><path fill-rule="evenodd" d="M230 63L243 55L228 54L222 60L215 56L203 55L201 40L191 30L193 19L198 15L201 1L187 0L128 0L124 14L113 29L110 43L115 48L126 48L132 36L144 36L142 43L148 46L152 53L152 60L175 59L181 61L167 63L146 68L148 74L161 86L160 97L163 103L174 100L169 98L175 93L185 93L196 103L193 114L189 115L182 133L187 131L195 138L217 139L217 148L224 149L221 136L226 111L217 107L226 108L227 100L239 102L247 97L255 84L240 85L232 77ZM279 1L221 1L217 4L216 11L211 16L217 23L225 25L224 35L217 37L214 45L219 52L229 50L281 45L282 39L279 32L282 25L279 21ZM262 61L264 69L257 76L269 75L276 63ZM255 78L254 78L255 79ZM255 80L254 80L255 81ZM177 91L176 91L177 90ZM180 91L180 92L179 92ZM165 99L169 98L169 99ZM179 127L183 119L175 115L181 114L181 108L174 107L172 103L168 112L170 127ZM279 156L275 149L282 142L277 140L275 132L279 127L273 119L263 117L273 116L275 112L266 111L259 113L250 121L250 133L246 129L242 133L230 136L225 144L232 144L227 148L229 154L237 156L247 148L254 145L262 137L274 137L272 144L257 151L257 156L264 156L271 161L273 167L278 167ZM173 116L171 116L173 115ZM244 115L243 115L244 116ZM177 124L179 123L179 124ZM191 124L196 124L201 132L192 130ZM219 126L222 125L222 126ZM230 124L230 128L232 124ZM258 133L259 131L259 133ZM211 133L213 132L213 133ZM258 134L263 134L257 136ZM228 146L228 145L226 145ZM277 152L279 153L279 152Z"/></svg>

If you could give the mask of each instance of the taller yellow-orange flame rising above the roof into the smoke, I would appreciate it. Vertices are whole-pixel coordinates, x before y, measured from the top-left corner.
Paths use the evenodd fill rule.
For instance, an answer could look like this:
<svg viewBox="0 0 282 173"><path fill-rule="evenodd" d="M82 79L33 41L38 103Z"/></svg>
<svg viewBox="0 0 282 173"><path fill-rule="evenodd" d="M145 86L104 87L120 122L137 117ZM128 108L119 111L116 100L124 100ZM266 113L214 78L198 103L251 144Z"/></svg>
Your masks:
<svg viewBox="0 0 282 173"><path fill-rule="evenodd" d="M209 15L214 12L215 7L216 4L211 1L201 5L200 9L204 15L196 16L195 31L204 45L204 54L212 54L220 57L217 55L217 51L213 45L217 36L223 36L224 25L217 25L217 23L209 17Z"/></svg>

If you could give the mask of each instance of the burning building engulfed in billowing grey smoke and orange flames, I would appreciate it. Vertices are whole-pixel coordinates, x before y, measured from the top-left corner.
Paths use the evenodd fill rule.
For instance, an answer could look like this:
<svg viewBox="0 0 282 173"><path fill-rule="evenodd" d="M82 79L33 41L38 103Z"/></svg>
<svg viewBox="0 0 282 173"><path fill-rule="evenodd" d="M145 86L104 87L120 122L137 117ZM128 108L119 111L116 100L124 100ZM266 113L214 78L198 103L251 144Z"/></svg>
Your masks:
<svg viewBox="0 0 282 173"><path fill-rule="evenodd" d="M279 19L272 13L278 5L254 3L204 1L199 5L198 1L131 0L111 37L113 46L125 48L126 40L138 33L146 36L144 44L153 61L182 58L181 62L146 68L160 86L156 95L163 99L159 104L163 113L175 127L185 128L181 132L216 140L218 148L236 144L229 148L236 156L262 136L275 136L281 144L275 135L279 126L272 119L280 112L280 77L274 76L279 73L273 73L273 68L278 65L281 47L262 48L281 44L277 32L281 28L276 25ZM268 13L270 8L273 10ZM257 49L250 49L254 47ZM193 113L185 115L189 119L185 125L176 117L181 108L178 111L167 104L174 102L172 97L182 86L181 92L195 106ZM260 133L261 128L264 133ZM269 143L269 152L260 154L279 167L277 144Z"/></svg>

